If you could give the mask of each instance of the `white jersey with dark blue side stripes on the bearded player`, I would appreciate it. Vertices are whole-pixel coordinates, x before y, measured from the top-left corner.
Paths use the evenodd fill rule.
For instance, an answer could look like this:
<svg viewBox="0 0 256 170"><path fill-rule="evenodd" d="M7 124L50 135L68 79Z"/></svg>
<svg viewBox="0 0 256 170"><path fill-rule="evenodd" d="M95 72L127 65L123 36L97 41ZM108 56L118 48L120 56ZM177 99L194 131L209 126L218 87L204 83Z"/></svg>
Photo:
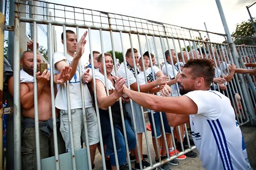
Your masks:
<svg viewBox="0 0 256 170"><path fill-rule="evenodd" d="M198 107L190 127L205 169L250 169L242 132L228 97L217 91L192 91L185 96Z"/></svg>

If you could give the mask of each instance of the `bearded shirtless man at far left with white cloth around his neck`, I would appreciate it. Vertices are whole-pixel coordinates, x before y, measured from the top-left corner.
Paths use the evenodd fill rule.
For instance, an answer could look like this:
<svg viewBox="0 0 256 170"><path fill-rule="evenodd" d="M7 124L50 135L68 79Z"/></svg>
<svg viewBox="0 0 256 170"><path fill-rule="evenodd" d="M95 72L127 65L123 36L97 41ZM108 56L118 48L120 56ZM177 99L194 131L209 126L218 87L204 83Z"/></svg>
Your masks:
<svg viewBox="0 0 256 170"><path fill-rule="evenodd" d="M22 168L37 169L36 162L36 134L35 134L35 107L34 107L34 84L33 84L33 51L25 51L21 56L20 71L20 98L22 107ZM37 71L42 62L37 54ZM63 70L64 71L64 70ZM67 72L71 70L67 69ZM63 72L62 72L63 73ZM63 76L63 74L62 74ZM47 70L36 73L38 94L38 119L40 126L40 156L41 159L54 156L53 145L53 122L51 106L50 72ZM13 96L13 77L9 79L9 91ZM56 92L56 91L55 91ZM58 114L56 113L56 117ZM58 119L57 119L58 123ZM46 128L45 128L46 127ZM60 127L58 127L59 129ZM46 130L47 129L47 130ZM65 143L58 135L58 153L65 153Z"/></svg>

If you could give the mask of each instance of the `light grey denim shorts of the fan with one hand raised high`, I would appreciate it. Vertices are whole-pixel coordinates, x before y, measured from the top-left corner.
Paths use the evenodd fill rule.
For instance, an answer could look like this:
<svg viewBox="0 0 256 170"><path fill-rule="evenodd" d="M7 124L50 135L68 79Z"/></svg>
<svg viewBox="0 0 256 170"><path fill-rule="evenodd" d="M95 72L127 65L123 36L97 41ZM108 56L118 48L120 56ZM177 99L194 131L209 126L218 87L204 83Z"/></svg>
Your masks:
<svg viewBox="0 0 256 170"><path fill-rule="evenodd" d="M85 127L83 124L83 111L82 108L71 109L71 119L72 119L72 134L73 134L73 144L75 150L81 149L81 137L82 141L86 143L86 135L88 134L89 145L99 143L99 128L95 109L93 107L85 108L85 116L87 123L87 132L85 132ZM68 111L60 111L61 127L60 131L62 137L66 144L66 151L71 152L71 142L70 142L70 128L68 121Z"/></svg>

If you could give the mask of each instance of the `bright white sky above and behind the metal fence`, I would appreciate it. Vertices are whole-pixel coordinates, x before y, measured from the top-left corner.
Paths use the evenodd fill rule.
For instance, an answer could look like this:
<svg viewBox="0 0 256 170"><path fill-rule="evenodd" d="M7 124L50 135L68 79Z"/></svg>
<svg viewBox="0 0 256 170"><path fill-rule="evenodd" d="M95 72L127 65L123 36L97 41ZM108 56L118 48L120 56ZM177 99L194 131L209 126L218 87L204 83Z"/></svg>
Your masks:
<svg viewBox="0 0 256 170"><path fill-rule="evenodd" d="M205 30L205 22L208 31L225 33L215 0L52 0L48 2L122 14L200 30ZM221 0L220 2L229 31L233 33L236 24L249 19L246 6L250 6L255 0ZM256 4L250 7L249 10L252 17L256 17ZM59 32L62 32L62 29ZM57 40L60 39L60 34L57 35ZM97 41L99 37L93 38L93 40L95 39ZM106 45L110 46L110 43ZM96 42L96 46L93 45L93 50L101 51L100 42ZM63 51L61 48L63 48L62 44L58 46L58 51ZM111 47L105 49L110 50ZM117 51L120 51L119 49L116 47ZM87 56L90 53L88 46L86 46L85 53L85 57L82 58L88 61Z"/></svg>

